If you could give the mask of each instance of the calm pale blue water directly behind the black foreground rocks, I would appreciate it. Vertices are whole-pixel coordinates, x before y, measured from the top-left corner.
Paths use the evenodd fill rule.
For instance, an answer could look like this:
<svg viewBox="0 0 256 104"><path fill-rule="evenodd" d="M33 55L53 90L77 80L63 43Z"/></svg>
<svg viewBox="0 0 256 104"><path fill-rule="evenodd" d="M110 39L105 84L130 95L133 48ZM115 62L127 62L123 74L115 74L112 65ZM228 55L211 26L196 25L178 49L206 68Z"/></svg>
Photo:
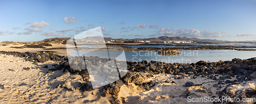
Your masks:
<svg viewBox="0 0 256 104"><path fill-rule="evenodd" d="M122 51L111 51L115 58L118 56ZM154 60L154 61L163 61L167 63L195 63L200 60L208 61L208 62L216 62L219 60L232 60L233 58L241 58L241 59L248 59L252 57L256 57L255 51L237 51L237 50L183 50L179 51L182 54L180 55L172 55L172 56L165 56L165 55L158 55L156 52L152 51L125 51L125 58L118 58L121 60L127 61L142 61L142 60ZM99 56L108 58L107 51L79 51L80 55L84 56ZM73 55L76 52L72 53Z"/></svg>

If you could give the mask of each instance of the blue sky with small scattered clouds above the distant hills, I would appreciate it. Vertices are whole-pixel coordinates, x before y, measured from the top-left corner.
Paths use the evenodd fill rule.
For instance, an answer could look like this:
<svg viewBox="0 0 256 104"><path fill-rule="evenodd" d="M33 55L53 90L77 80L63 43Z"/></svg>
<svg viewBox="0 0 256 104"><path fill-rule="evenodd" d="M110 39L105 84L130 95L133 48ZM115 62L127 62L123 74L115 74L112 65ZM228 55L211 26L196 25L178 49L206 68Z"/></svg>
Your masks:
<svg viewBox="0 0 256 104"><path fill-rule="evenodd" d="M255 1L0 1L0 42L73 37L256 40Z"/></svg>

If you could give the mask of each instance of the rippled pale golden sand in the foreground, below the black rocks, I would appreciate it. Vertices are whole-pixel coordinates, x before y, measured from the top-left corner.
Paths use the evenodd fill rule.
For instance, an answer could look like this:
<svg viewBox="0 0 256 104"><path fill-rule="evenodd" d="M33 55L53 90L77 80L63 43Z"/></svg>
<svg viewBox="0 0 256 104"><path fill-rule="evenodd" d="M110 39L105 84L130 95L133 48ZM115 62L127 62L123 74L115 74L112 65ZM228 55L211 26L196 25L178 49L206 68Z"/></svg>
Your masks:
<svg viewBox="0 0 256 104"><path fill-rule="evenodd" d="M5 89L0 89L1 103L110 103L109 100L113 99L110 94L106 97L100 96L102 92L99 92L99 89L86 92L74 89L79 86L79 82L84 83L79 75L70 75L68 72L63 73L62 70L47 74L48 69L54 68L52 65L56 64L56 62L53 61L32 64L32 62L25 61L24 58L0 54L0 62L0 84L5 87ZM43 68L45 65L48 65L48 68ZM24 67L40 68L32 68L31 70L26 71L24 70ZM218 82L207 77L198 77L197 79L191 79L190 77L174 80L174 75L157 74L150 79L145 79L145 82L149 82L150 80L156 82L155 86L150 90L138 90L138 86L135 86L134 84L127 86L123 85L120 89L118 99L121 102L122 99L124 99L125 103L133 104L191 103L187 102L187 98L179 97L180 95L185 95L187 89L190 90L189 92L192 98L218 96L216 94L218 91L217 88L212 87ZM176 81L177 84L165 83L164 81L166 80ZM231 81L232 80L234 80L233 77ZM205 89L211 88L212 95L209 95L210 93L208 92L196 92L195 90L203 89L200 86L183 87L188 81L194 82L195 84L210 82L203 84L203 86ZM63 82L66 82L67 87L74 89L74 91L66 91L64 88L56 88L56 86ZM244 88L255 89L255 82L256 81L249 81L246 84L232 85L230 87L232 87L231 90L233 91L243 90ZM225 86L223 86L221 90L223 90L224 87Z"/></svg>

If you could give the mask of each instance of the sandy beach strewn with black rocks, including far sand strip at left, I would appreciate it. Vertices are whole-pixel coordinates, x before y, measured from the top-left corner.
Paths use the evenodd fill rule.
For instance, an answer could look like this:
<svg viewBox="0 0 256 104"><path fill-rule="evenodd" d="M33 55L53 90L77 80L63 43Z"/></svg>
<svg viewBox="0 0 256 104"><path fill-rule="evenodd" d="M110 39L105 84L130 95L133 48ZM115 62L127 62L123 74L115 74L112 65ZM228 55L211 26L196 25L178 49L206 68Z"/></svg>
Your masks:
<svg viewBox="0 0 256 104"><path fill-rule="evenodd" d="M62 44L52 45L46 47L65 47ZM45 51L38 48L15 49L10 48L11 46L23 45L1 46L0 50L17 52ZM249 60L233 59L231 63L227 61L229 63L228 66L216 66L220 63L224 64L226 61L220 61L219 63L199 61L196 63L197 65L194 63L194 65L187 64L191 69L195 69L196 72L190 68L183 68L185 64L180 64L179 66L165 64L163 68L156 70L154 68L159 67L158 63L150 66L133 66L129 62L127 63L129 71L125 75L126 79L120 80L121 83L115 82L96 89L89 89L84 84L88 84L87 81L90 81L90 79L94 80L100 77L99 73L95 76L90 76L91 78L88 79L88 77L84 77L87 75L80 74L81 71L71 70L65 58L64 60L58 58L61 56L56 57L51 56L53 54L48 54L49 56L46 57L55 58L40 62L36 58L31 60L31 57L37 57L38 55L44 57L44 54L33 53L34 55L32 54L32 56L25 55L23 57L24 53L15 53L21 54L20 56L13 56L13 53L8 55L6 54L8 52L4 53L0 54L0 61L2 62L0 65L1 103L213 103L214 101L209 101L210 98L226 96L227 98L237 97L242 100L242 98L256 97L254 94L256 91L256 81L254 80L256 73L253 73L256 66L254 58ZM247 63L243 66L247 67L244 68L245 70L242 70L242 66L236 65L242 64L242 61ZM231 67L232 65L236 65L239 68L236 75L233 72L236 67L233 68ZM174 67L174 71L169 67ZM199 71L200 67L205 72ZM223 72L220 67L231 67L232 69L226 68L226 71L224 70ZM219 72L212 73L211 71L214 71L214 69L218 69ZM137 80L133 79L133 77ZM195 98L203 99L205 97L209 98L206 102L195 101ZM191 98L194 98L194 100ZM229 103L230 101L223 99L221 102L215 102ZM240 103L253 103L253 101Z"/></svg>

